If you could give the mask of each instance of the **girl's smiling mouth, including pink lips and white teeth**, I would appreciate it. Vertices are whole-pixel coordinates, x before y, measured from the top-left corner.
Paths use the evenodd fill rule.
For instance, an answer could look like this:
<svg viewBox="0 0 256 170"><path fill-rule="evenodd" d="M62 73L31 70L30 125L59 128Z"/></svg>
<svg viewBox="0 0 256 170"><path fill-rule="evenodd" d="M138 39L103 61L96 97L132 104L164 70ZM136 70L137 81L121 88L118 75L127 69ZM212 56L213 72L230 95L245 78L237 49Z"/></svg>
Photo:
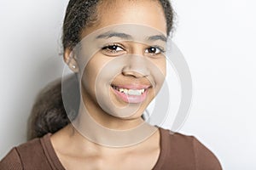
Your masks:
<svg viewBox="0 0 256 170"><path fill-rule="evenodd" d="M149 86L111 86L114 94L125 103L142 103L147 98Z"/></svg>

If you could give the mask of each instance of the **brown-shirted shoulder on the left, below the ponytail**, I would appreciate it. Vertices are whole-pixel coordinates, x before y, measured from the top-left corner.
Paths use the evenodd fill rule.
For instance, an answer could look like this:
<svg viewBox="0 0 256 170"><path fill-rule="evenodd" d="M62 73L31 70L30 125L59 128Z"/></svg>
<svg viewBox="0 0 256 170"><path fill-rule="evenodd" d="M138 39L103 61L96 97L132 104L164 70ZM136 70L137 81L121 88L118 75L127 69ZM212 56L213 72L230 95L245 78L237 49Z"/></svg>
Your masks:
<svg viewBox="0 0 256 170"><path fill-rule="evenodd" d="M49 134L40 139L32 139L25 144L14 147L9 153L3 157L0 162L0 169L40 169L49 165L44 139L49 138Z"/></svg>

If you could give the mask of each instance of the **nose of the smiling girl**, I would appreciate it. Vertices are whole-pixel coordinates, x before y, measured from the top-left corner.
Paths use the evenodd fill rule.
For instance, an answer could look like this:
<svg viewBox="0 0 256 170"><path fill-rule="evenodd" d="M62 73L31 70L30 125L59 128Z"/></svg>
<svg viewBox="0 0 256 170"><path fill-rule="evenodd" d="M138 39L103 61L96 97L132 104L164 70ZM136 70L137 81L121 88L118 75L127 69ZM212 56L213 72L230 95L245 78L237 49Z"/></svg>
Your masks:
<svg viewBox="0 0 256 170"><path fill-rule="evenodd" d="M131 54L129 56L127 65L122 70L122 74L124 76L130 76L130 77L148 77L149 70L148 70L148 61L145 57Z"/></svg>

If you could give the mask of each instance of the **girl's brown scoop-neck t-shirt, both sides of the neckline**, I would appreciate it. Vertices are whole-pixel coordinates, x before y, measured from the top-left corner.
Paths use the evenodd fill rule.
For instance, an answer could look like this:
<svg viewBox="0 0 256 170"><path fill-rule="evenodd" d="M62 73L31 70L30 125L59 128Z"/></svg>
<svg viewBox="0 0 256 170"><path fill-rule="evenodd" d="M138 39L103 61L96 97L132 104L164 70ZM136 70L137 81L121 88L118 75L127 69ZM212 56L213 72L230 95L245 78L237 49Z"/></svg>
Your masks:
<svg viewBox="0 0 256 170"><path fill-rule="evenodd" d="M50 133L9 151L0 170L64 170L50 142ZM220 163L195 137L160 128L160 156L154 170L221 170Z"/></svg>

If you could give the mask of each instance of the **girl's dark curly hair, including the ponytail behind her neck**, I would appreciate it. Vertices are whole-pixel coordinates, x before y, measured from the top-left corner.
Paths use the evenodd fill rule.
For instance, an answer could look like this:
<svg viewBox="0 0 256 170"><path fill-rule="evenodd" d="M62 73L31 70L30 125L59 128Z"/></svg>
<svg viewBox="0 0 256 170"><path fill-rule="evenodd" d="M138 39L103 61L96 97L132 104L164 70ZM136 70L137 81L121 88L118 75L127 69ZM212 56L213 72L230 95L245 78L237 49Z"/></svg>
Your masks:
<svg viewBox="0 0 256 170"><path fill-rule="evenodd" d="M114 0L111 0L113 2ZM131 1L131 0L129 0ZM154 0L160 3L166 17L167 36L173 29L174 12L169 0ZM70 0L67 5L63 23L62 46L73 49L79 42L84 28L96 24L100 18L98 7L109 3L107 0ZM67 78L66 81L76 78ZM74 81L70 81L74 82ZM74 89L74 83L70 83L70 89ZM67 87L68 88L68 87ZM78 107L78 105L75 105ZM46 133L55 133L70 123L65 111L61 96L61 79L50 83L39 94L32 107L32 113L28 121L27 139L44 136Z"/></svg>

